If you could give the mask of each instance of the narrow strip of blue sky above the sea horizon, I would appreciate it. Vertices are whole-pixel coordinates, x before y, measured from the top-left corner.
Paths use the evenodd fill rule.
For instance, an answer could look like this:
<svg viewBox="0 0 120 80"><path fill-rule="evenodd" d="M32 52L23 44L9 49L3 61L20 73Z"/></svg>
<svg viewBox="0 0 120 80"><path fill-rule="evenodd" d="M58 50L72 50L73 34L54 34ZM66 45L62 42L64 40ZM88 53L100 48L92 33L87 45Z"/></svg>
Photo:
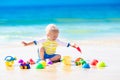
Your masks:
<svg viewBox="0 0 120 80"><path fill-rule="evenodd" d="M120 0L0 0L0 6L69 5L69 4L119 4Z"/></svg>

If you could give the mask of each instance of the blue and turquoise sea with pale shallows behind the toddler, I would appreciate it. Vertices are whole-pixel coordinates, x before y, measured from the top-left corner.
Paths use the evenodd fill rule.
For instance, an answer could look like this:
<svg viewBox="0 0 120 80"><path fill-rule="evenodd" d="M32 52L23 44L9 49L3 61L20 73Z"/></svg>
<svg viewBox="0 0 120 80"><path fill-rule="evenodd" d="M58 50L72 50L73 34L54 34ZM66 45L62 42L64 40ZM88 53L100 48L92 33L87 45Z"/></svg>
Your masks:
<svg viewBox="0 0 120 80"><path fill-rule="evenodd" d="M45 37L55 24L63 40L120 36L120 5L0 6L0 43L32 41Z"/></svg>

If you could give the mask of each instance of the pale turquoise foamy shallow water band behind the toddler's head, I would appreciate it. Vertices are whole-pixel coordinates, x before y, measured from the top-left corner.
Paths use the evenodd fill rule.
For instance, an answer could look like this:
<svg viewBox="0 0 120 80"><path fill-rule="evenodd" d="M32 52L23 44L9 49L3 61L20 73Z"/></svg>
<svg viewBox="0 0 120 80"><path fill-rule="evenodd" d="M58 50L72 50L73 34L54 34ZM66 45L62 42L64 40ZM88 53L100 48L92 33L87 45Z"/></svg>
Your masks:
<svg viewBox="0 0 120 80"><path fill-rule="evenodd" d="M45 37L43 25L0 26L0 41L35 40ZM59 23L59 37L68 40L89 39L120 34L119 22Z"/></svg>

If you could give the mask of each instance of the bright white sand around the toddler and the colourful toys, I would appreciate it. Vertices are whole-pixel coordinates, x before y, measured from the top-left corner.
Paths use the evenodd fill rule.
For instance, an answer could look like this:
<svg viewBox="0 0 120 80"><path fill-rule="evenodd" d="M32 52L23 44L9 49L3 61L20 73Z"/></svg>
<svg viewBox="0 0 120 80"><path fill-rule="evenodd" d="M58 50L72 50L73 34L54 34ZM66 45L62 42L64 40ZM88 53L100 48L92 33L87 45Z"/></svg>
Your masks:
<svg viewBox="0 0 120 80"><path fill-rule="evenodd" d="M19 69L18 60L27 61L30 58L37 59L37 47L23 47L17 45L1 46L0 48L0 80L119 80L120 79L120 39L94 39L78 42L83 54L73 48L59 47L57 53L62 56L69 55L74 60L77 57L84 58L87 62L93 59L104 61L107 65L104 69L82 69L75 65L64 66L56 63L46 69L35 69L35 65L29 70ZM11 46L11 47L10 47ZM14 68L6 69L4 58L16 56Z"/></svg>

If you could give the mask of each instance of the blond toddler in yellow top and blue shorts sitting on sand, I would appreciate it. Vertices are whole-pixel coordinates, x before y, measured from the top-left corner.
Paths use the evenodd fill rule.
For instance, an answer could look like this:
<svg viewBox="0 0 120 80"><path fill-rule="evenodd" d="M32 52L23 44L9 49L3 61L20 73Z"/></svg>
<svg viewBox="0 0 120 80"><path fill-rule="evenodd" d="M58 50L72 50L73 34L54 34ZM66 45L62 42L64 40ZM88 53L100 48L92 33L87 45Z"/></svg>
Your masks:
<svg viewBox="0 0 120 80"><path fill-rule="evenodd" d="M60 41L58 38L59 35L59 29L56 27L56 25L54 24L49 24L46 27L46 39L41 39L38 41L32 41L32 42L22 42L24 44L24 46L29 46L29 45L38 45L38 44L42 44L42 46L39 48L39 57L41 60L46 60L46 59L50 59L52 62L59 62L61 59L61 55L60 54L56 54L56 48L58 45L61 46L72 46L72 47L76 47L76 44L70 44L70 43L66 43L63 41Z"/></svg>

